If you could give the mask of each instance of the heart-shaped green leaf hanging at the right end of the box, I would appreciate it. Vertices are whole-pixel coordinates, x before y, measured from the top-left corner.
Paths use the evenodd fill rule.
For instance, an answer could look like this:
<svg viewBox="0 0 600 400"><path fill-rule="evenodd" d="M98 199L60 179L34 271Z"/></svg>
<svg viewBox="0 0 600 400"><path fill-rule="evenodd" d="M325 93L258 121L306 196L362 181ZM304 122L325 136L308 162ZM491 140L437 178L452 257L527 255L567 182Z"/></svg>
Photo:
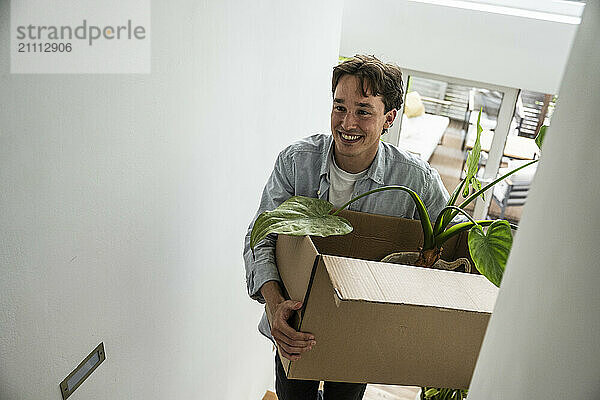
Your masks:
<svg viewBox="0 0 600 400"><path fill-rule="evenodd" d="M469 231L469 253L475 267L494 285L500 287L508 254L512 246L512 233L507 221L494 221L487 234L480 225Z"/></svg>

